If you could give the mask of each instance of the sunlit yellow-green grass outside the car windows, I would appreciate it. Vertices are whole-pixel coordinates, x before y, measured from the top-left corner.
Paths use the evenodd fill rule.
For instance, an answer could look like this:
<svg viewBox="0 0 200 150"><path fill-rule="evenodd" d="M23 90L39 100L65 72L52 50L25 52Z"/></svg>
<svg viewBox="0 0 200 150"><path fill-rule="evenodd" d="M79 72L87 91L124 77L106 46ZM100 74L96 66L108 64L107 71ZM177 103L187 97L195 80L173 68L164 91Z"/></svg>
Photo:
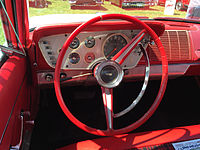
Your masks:
<svg viewBox="0 0 200 150"><path fill-rule="evenodd" d="M164 15L163 6L152 6L150 9L122 9L117 6L111 5L105 1L104 5L100 9L71 9L68 1L63 0L49 0L52 4L48 5L48 8L29 8L29 16L40 16L46 14L94 14L94 13L120 13L128 14L132 16L147 16L149 18L155 17L179 17L185 18L185 11L176 11L172 16ZM52 18L53 19L53 18ZM0 21L1 23L1 21ZM0 26L0 44L3 44L4 33L2 26Z"/></svg>

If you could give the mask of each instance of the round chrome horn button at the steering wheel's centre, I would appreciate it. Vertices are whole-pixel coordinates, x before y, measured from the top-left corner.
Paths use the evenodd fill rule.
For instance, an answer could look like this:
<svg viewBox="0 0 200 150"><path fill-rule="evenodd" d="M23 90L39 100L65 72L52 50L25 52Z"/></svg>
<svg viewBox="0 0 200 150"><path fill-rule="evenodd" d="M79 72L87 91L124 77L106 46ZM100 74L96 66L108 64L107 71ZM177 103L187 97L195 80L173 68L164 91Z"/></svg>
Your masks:
<svg viewBox="0 0 200 150"><path fill-rule="evenodd" d="M94 75L101 86L114 88L122 81L124 72L118 63L107 60L95 67Z"/></svg>

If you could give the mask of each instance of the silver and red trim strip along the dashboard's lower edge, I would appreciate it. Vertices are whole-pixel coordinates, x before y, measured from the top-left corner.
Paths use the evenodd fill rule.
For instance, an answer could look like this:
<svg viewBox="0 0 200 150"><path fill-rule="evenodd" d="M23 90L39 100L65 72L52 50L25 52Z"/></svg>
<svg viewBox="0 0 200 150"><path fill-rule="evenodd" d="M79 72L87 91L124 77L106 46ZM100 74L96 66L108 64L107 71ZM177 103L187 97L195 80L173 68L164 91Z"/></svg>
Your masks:
<svg viewBox="0 0 200 150"><path fill-rule="evenodd" d="M184 75L188 69L191 66L195 65L200 65L200 63L185 63L185 64L169 64L168 65L168 75L170 78L175 78ZM131 79L134 78L137 80L137 77L144 77L144 72L145 72L145 66L144 65L138 65L133 69L128 70L128 74L125 73L124 78L125 79ZM82 71L65 71L67 76L75 76L83 73L88 73L87 70L82 70ZM45 75L51 74L54 76L53 71L44 71L44 72L38 72L37 73L37 78L38 78L38 84L39 85L45 85L45 84L53 84L53 79L51 81L46 81L45 80ZM157 64L157 65L151 65L151 71L150 71L150 77L157 77L162 75L162 65ZM95 77L83 77L83 78L78 78L75 81L77 82L84 82L84 80L87 81L95 81ZM68 82L68 81L66 81Z"/></svg>

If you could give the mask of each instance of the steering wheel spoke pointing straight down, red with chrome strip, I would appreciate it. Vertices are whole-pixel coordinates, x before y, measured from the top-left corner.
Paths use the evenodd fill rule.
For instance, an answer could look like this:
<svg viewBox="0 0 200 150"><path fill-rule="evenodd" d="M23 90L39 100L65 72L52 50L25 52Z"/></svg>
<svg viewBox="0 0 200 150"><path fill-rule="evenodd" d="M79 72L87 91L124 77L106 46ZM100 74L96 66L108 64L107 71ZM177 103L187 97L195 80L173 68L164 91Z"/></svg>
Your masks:
<svg viewBox="0 0 200 150"><path fill-rule="evenodd" d="M113 130L113 89L101 87L107 130Z"/></svg>

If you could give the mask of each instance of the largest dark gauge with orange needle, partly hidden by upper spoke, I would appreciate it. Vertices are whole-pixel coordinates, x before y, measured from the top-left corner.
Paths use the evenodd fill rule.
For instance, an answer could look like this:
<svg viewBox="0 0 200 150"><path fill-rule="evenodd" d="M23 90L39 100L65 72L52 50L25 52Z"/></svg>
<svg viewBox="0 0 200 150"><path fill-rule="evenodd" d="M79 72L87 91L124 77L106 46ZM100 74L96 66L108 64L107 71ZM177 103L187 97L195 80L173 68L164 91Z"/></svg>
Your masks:
<svg viewBox="0 0 200 150"><path fill-rule="evenodd" d="M127 44L126 36L123 34L112 34L108 36L104 45L103 52L107 59L115 56Z"/></svg>

